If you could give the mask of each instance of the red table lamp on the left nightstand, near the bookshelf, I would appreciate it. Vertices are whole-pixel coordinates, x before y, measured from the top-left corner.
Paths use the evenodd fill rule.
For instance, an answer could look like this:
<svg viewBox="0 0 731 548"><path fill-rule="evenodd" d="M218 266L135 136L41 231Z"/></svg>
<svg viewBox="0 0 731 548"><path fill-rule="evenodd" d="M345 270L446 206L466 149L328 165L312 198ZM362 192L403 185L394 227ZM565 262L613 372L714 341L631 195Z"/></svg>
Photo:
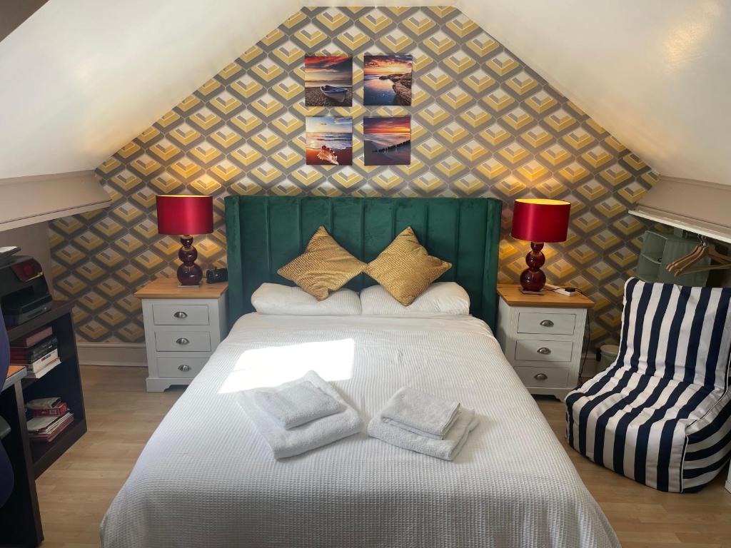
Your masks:
<svg viewBox="0 0 731 548"><path fill-rule="evenodd" d="M157 232L177 234L183 246L178 257L183 262L178 267L179 287L197 287L203 271L195 264L198 252L193 247L193 235L213 232L213 198L190 194L163 194L156 197Z"/></svg>

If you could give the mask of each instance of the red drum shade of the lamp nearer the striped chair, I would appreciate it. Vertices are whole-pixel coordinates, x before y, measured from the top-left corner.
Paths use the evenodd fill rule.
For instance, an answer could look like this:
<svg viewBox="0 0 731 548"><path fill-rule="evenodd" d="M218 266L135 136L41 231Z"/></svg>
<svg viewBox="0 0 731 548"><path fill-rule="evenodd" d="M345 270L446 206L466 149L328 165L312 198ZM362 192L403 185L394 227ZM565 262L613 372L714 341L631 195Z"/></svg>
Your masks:
<svg viewBox="0 0 731 548"><path fill-rule="evenodd" d="M560 199L516 199L510 235L529 242L565 242L571 204Z"/></svg>

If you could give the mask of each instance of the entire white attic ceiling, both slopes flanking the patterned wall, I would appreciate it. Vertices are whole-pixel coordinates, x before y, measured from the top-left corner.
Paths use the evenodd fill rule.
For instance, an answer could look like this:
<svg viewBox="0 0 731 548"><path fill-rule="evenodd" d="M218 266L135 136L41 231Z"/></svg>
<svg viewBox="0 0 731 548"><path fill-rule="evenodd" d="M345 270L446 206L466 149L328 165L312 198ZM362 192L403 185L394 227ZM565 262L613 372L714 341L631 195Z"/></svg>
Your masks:
<svg viewBox="0 0 731 548"><path fill-rule="evenodd" d="M731 184L730 1L375 3L455 4L656 171ZM48 1L0 42L0 179L93 169L301 5Z"/></svg>

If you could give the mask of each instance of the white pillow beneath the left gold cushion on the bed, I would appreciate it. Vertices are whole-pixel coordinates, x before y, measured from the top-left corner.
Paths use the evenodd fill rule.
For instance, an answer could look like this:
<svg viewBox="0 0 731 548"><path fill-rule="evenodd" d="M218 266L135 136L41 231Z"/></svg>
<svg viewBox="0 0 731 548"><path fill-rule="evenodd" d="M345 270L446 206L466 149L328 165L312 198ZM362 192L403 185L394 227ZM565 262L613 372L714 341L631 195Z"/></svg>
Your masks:
<svg viewBox="0 0 731 548"><path fill-rule="evenodd" d="M289 316L357 316L360 314L358 294L338 289L325 300L317 300L299 287L279 283L262 283L251 294L251 304L260 314Z"/></svg>

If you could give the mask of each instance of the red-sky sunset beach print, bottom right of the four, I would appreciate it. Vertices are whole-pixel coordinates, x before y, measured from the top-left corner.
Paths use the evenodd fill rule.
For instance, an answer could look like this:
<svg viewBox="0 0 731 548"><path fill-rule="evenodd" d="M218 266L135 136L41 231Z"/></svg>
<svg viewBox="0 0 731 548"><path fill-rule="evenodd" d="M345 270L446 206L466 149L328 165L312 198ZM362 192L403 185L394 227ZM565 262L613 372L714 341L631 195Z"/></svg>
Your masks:
<svg viewBox="0 0 731 548"><path fill-rule="evenodd" d="M367 166L411 164L411 116L363 118L363 141Z"/></svg>

